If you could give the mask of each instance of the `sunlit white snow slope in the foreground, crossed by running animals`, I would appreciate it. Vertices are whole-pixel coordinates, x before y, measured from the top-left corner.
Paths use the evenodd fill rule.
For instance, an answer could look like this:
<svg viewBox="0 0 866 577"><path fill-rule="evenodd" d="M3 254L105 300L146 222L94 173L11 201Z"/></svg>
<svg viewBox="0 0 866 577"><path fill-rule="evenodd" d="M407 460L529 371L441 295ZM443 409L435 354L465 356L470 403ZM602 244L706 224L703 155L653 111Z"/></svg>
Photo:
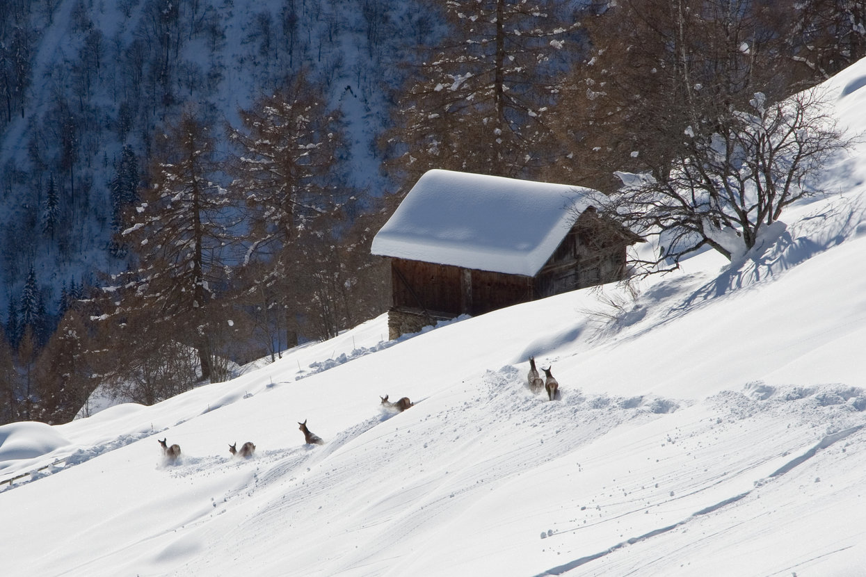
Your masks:
<svg viewBox="0 0 866 577"><path fill-rule="evenodd" d="M866 129L866 61L829 88ZM634 301L397 343L379 317L153 407L0 427L0 483L35 471L0 484L3 574L864 575L866 144L826 180L766 253Z"/></svg>

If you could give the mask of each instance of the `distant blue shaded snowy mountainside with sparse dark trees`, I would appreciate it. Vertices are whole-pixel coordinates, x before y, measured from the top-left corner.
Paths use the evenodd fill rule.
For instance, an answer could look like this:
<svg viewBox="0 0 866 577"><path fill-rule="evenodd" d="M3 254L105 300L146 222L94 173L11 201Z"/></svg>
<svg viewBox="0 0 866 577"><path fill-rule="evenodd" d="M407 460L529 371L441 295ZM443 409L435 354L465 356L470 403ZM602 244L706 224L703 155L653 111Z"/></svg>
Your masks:
<svg viewBox="0 0 866 577"><path fill-rule="evenodd" d="M374 143L389 115L388 91L402 80L395 62L435 29L423 10L382 0L32 4L9 16L32 46L21 112L0 119L4 309L29 266L52 314L61 284L93 285L100 272L126 268L107 251L121 149L130 145L145 170L153 135L190 103L218 130L237 126L239 108L304 68L325 87L329 109L342 113L346 187L379 195L393 185L379 172ZM416 38L415 28L428 31ZM60 196L50 237L42 230L49 177Z"/></svg>

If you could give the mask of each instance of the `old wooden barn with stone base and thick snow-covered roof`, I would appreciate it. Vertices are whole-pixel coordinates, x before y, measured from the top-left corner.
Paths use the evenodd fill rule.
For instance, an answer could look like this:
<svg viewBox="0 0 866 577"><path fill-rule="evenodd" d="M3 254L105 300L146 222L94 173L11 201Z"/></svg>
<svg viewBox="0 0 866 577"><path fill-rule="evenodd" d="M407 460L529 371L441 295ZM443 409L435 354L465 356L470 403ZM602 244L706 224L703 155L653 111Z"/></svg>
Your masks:
<svg viewBox="0 0 866 577"><path fill-rule="evenodd" d="M641 239L604 221L597 191L430 170L378 232L391 260L390 338L438 320L479 315L624 279Z"/></svg>

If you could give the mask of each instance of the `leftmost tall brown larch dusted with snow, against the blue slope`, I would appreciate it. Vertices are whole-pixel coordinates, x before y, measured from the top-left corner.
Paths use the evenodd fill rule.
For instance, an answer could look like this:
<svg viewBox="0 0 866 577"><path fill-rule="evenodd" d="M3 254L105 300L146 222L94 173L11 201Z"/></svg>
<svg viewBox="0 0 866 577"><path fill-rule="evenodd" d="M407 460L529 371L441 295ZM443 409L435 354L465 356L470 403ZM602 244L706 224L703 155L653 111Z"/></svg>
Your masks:
<svg viewBox="0 0 866 577"><path fill-rule="evenodd" d="M202 378L209 380L209 324L216 320L210 305L224 280L236 215L226 190L214 181L219 167L210 126L195 111L185 110L157 140L152 184L141 190L124 231L138 267L121 279L115 316L144 317L163 328L165 339L195 349Z"/></svg>

